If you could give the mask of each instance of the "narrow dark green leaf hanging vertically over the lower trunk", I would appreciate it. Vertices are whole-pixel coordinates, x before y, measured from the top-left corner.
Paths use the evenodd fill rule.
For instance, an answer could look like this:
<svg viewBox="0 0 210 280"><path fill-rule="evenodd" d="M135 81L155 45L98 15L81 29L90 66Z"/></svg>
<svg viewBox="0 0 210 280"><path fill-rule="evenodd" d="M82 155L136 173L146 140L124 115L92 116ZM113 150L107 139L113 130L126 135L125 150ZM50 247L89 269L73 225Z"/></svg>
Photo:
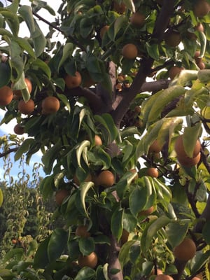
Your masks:
<svg viewBox="0 0 210 280"><path fill-rule="evenodd" d="M111 216L111 232L117 240L123 233L123 216L124 209L117 208Z"/></svg>

